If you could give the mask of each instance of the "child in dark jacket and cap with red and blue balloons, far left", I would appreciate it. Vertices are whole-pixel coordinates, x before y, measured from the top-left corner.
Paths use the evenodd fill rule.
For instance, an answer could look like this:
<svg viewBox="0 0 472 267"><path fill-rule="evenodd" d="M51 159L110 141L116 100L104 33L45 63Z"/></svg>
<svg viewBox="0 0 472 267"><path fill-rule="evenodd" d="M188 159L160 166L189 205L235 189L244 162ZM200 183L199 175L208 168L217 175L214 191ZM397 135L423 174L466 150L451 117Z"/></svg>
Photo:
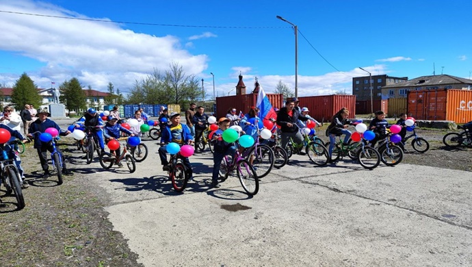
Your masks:
<svg viewBox="0 0 472 267"><path fill-rule="evenodd" d="M41 167L42 170L44 170L44 175L42 175L42 178L47 179L49 176L51 176L51 173L49 173L49 164L47 163L47 151L52 153L53 145L51 142L42 142L39 137L41 133L44 133L46 129L51 127L57 129L60 136L67 136L70 131L62 130L59 125L57 125L57 123L47 118L48 116L51 116L51 114L46 109L38 111L36 116L38 116L38 120L35 120L29 125L28 137L34 138L34 148L38 151ZM62 174L71 175L72 173L67 169L66 161L64 160L64 155L62 154L60 148L56 147L56 150L62 155Z"/></svg>

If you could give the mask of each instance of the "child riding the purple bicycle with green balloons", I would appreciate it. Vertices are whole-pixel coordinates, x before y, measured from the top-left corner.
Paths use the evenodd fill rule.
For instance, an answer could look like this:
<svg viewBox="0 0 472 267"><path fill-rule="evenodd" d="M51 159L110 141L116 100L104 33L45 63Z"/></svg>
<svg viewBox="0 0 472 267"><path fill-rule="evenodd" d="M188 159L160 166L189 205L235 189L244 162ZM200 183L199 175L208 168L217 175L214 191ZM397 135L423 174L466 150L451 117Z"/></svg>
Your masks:
<svg viewBox="0 0 472 267"><path fill-rule="evenodd" d="M220 118L218 125L220 129L213 133L213 140L215 140L215 146L213 149L213 176L211 177L211 185L213 188L220 188L218 183L218 175L220 171L221 161L225 155L235 156L236 146L235 143L228 143L222 139L222 133L224 130L229 128L231 120L229 118Z"/></svg>

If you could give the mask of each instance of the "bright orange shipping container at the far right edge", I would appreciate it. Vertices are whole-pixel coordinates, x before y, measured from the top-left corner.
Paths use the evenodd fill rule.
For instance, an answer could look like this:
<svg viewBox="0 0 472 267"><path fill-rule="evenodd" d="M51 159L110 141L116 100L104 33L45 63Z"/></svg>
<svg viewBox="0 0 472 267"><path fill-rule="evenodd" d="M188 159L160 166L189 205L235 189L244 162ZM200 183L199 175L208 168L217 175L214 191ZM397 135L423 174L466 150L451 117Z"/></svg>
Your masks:
<svg viewBox="0 0 472 267"><path fill-rule="evenodd" d="M418 90L408 92L408 116L417 120L472 120L471 90Z"/></svg>

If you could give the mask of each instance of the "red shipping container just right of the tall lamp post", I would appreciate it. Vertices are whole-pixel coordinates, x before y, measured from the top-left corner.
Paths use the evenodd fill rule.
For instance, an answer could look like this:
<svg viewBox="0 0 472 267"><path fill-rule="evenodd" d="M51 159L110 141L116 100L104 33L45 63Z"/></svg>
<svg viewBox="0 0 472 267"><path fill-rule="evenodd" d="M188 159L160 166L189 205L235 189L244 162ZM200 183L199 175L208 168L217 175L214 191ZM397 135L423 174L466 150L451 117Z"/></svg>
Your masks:
<svg viewBox="0 0 472 267"><path fill-rule="evenodd" d="M313 97L298 97L300 107L308 107L309 114L320 123L331 121L332 116L345 107L350 114L356 114L356 96L333 94Z"/></svg>

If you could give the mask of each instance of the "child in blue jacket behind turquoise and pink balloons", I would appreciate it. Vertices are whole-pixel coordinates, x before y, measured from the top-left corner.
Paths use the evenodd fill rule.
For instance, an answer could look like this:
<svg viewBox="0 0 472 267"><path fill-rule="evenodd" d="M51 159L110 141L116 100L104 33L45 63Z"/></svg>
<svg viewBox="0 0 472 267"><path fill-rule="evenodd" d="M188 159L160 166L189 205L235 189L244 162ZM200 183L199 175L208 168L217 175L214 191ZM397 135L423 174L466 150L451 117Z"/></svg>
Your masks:
<svg viewBox="0 0 472 267"><path fill-rule="evenodd" d="M167 160L167 149L166 145L169 142L176 142L177 144L192 144L194 138L190 133L189 127L185 124L181 124L181 114L172 112L170 114L171 125L168 125L165 129L161 130L161 147L159 148L159 157L161 158L162 170L170 170L170 165ZM192 166L188 157L180 156L183 164L187 167L189 179L193 179Z"/></svg>

